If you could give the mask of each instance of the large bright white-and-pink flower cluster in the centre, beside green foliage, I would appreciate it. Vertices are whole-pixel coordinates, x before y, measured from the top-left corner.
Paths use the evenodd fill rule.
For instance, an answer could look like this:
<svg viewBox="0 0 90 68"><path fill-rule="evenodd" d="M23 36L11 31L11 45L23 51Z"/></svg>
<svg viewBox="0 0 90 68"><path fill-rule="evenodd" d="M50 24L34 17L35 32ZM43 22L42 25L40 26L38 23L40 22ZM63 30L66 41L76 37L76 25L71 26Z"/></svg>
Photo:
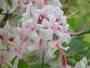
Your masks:
<svg viewBox="0 0 90 68"><path fill-rule="evenodd" d="M32 45L37 49L43 47L46 48L47 56L50 57L53 57L53 51L58 48L67 50L68 47L64 48L62 44L69 43L71 36L59 0L30 1L25 5L26 10L21 19L21 29L29 34L28 38L31 39L31 43L33 40L33 44L29 44L29 50L35 49L31 47ZM41 41L43 41L42 44Z"/></svg>

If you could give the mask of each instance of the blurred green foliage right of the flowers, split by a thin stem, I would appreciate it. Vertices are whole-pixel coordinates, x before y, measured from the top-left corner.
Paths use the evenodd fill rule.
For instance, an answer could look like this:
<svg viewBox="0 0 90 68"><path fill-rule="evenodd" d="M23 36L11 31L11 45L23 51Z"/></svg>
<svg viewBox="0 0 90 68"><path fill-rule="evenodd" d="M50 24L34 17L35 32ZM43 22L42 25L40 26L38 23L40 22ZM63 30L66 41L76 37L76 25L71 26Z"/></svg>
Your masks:
<svg viewBox="0 0 90 68"><path fill-rule="evenodd" d="M90 0L61 0L72 31L90 30ZM69 63L74 65L83 56L90 63L90 32L72 39L68 52Z"/></svg>

